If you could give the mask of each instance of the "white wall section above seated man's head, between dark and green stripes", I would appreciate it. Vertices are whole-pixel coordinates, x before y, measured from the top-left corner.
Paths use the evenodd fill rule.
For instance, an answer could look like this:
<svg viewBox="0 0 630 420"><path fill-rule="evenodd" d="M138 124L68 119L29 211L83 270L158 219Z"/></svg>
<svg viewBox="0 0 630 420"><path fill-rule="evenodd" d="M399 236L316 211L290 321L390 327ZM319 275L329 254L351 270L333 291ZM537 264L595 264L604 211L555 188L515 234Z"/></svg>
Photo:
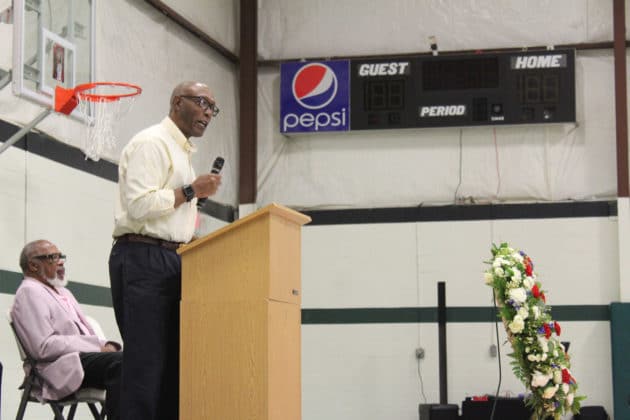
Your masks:
<svg viewBox="0 0 630 420"><path fill-rule="evenodd" d="M0 268L20 272L24 244L49 239L71 281L108 286L116 184L17 148L0 155L0 176Z"/></svg>

